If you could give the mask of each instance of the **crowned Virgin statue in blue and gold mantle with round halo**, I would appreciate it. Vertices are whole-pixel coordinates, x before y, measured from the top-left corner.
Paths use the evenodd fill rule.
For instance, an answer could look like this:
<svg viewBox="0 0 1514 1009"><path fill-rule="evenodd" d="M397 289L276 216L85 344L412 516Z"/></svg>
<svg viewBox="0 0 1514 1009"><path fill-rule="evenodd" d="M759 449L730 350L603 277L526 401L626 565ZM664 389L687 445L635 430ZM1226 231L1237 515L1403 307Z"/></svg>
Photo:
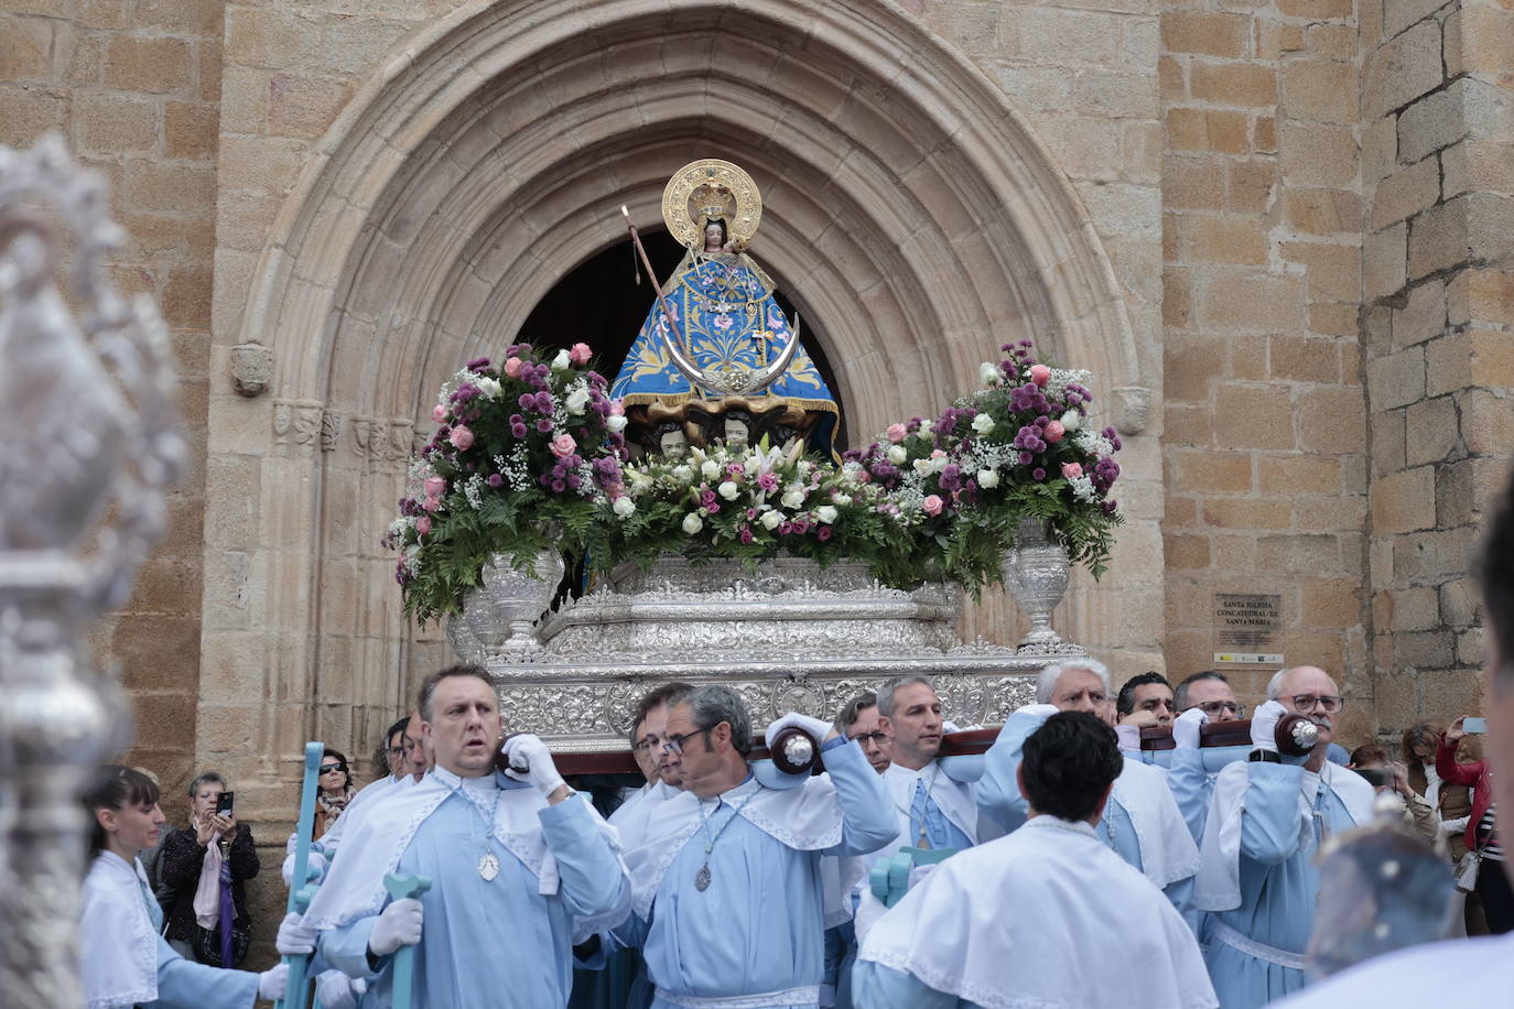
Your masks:
<svg viewBox="0 0 1514 1009"><path fill-rule="evenodd" d="M663 221L687 251L612 386L648 451L659 451L669 422L693 445L766 434L831 451L836 399L746 253L760 219L757 186L730 162L693 162L668 182Z"/></svg>

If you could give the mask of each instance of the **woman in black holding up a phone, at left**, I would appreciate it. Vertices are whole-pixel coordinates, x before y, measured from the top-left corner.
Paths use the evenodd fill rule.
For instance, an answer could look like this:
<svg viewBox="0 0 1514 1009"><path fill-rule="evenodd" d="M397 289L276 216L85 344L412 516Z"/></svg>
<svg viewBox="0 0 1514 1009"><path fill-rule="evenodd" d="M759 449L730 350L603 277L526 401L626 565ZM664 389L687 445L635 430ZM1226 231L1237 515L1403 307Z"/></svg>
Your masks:
<svg viewBox="0 0 1514 1009"><path fill-rule="evenodd" d="M189 785L189 826L164 841L159 873L173 888L168 942L210 967L238 967L247 958L253 921L247 880L257 874L253 832L236 811L217 812L226 779L207 771Z"/></svg>

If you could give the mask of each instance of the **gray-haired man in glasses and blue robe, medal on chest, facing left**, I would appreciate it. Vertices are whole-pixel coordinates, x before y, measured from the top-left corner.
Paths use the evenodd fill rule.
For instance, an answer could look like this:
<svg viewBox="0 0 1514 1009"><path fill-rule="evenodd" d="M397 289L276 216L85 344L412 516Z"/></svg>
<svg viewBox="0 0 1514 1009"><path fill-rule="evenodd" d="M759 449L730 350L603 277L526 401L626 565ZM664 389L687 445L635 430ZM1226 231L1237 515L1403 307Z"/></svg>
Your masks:
<svg viewBox="0 0 1514 1009"><path fill-rule="evenodd" d="M824 979L821 858L893 837L880 776L828 722L787 714L824 740L825 775L769 788L746 765L751 719L730 687L672 705L663 747L686 791L657 805L627 855L633 915L613 944L640 945L654 1009L815 1009ZM784 782L787 784L787 782Z"/></svg>

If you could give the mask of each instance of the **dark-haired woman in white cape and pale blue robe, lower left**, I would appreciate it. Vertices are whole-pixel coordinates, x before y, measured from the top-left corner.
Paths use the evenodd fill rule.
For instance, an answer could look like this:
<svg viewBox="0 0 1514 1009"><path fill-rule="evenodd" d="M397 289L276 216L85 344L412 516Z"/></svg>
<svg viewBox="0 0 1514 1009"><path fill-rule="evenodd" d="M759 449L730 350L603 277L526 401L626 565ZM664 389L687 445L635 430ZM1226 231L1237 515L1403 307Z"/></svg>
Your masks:
<svg viewBox="0 0 1514 1009"><path fill-rule="evenodd" d="M157 840L157 785L130 767L106 765L85 794L89 876L80 918L80 967L89 1009L251 1009L283 998L283 965L253 974L191 964L157 930L162 909L138 855Z"/></svg>

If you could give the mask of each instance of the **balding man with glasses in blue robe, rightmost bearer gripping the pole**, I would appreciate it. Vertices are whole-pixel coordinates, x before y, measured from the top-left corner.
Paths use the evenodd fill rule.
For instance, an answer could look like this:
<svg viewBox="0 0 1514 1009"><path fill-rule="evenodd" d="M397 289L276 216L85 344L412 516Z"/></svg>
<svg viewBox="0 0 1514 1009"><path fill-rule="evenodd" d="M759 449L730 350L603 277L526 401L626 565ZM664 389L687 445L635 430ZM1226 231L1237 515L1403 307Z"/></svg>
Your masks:
<svg viewBox="0 0 1514 1009"><path fill-rule="evenodd" d="M1331 835L1372 820L1372 785L1326 759L1343 703L1325 670L1279 672L1251 720L1251 759L1226 765L1214 781L1195 903L1211 912L1205 961L1226 1009L1264 1006L1304 986L1319 897L1316 855ZM1319 726L1305 756L1278 752L1275 729L1288 713Z"/></svg>

